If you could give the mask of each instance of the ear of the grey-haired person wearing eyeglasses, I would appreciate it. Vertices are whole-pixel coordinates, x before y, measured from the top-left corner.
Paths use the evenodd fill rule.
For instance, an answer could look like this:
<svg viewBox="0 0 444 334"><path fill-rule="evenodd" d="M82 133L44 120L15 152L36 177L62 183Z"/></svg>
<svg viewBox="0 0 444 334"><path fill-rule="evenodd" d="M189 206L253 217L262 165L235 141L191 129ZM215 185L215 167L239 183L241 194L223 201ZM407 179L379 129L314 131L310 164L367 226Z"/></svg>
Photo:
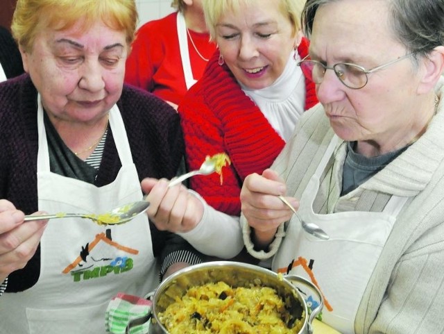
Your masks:
<svg viewBox="0 0 444 334"><path fill-rule="evenodd" d="M418 93L423 94L434 90L444 72L444 46L436 47L422 62L423 72Z"/></svg>

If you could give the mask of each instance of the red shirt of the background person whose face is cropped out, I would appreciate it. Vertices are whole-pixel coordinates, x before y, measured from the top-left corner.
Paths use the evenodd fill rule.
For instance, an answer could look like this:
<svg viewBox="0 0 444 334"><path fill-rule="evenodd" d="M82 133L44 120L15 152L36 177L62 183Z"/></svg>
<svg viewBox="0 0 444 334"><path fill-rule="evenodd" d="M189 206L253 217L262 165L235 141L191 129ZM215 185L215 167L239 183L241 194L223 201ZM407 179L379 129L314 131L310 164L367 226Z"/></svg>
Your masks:
<svg viewBox="0 0 444 334"><path fill-rule="evenodd" d="M177 12L147 22L139 28L132 51L126 60L125 82L153 92L157 97L179 104L187 92L180 58ZM208 33L189 31L196 48L210 58L216 44ZM196 80L202 76L207 61L200 58L188 37L191 71Z"/></svg>

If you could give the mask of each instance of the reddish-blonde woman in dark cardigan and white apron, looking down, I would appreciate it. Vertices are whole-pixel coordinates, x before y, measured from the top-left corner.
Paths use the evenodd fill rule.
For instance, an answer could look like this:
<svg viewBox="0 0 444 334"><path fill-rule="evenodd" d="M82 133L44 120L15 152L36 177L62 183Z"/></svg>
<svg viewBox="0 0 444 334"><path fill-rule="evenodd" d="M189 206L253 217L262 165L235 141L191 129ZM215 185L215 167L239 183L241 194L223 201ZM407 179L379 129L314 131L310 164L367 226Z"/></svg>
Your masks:
<svg viewBox="0 0 444 334"><path fill-rule="evenodd" d="M142 200L145 176L176 175L176 111L123 86L136 25L133 0L17 1L27 74L0 88L0 333L104 333L114 294L144 296L169 265L200 261L146 215L23 221L105 212Z"/></svg>

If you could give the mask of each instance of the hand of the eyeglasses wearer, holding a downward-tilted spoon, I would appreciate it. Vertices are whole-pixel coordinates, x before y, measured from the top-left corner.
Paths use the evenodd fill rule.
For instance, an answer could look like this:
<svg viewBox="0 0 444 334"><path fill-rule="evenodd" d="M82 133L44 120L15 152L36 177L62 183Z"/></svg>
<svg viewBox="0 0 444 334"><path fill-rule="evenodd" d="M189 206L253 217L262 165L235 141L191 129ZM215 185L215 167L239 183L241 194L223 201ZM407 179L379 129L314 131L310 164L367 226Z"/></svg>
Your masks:
<svg viewBox="0 0 444 334"><path fill-rule="evenodd" d="M245 178L241 190L241 210L254 229L255 241L269 244L282 222L291 218L293 212L282 203L278 195L284 195L287 187L276 172L266 169L259 174L251 174ZM297 209L299 202L287 197Z"/></svg>

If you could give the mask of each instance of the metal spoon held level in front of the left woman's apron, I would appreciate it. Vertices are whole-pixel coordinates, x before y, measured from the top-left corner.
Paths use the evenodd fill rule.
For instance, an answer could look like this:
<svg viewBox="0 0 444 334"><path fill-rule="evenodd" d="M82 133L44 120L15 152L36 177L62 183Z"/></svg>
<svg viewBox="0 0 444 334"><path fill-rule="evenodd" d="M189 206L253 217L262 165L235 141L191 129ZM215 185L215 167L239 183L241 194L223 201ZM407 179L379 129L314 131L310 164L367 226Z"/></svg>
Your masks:
<svg viewBox="0 0 444 334"><path fill-rule="evenodd" d="M150 203L148 201L137 201L114 208L110 212L104 212L101 215L91 213L65 213L58 212L53 215L26 215L24 221L41 220L41 219L58 219L58 218L87 218L99 225L119 225L129 222L131 219L144 212Z"/></svg>

